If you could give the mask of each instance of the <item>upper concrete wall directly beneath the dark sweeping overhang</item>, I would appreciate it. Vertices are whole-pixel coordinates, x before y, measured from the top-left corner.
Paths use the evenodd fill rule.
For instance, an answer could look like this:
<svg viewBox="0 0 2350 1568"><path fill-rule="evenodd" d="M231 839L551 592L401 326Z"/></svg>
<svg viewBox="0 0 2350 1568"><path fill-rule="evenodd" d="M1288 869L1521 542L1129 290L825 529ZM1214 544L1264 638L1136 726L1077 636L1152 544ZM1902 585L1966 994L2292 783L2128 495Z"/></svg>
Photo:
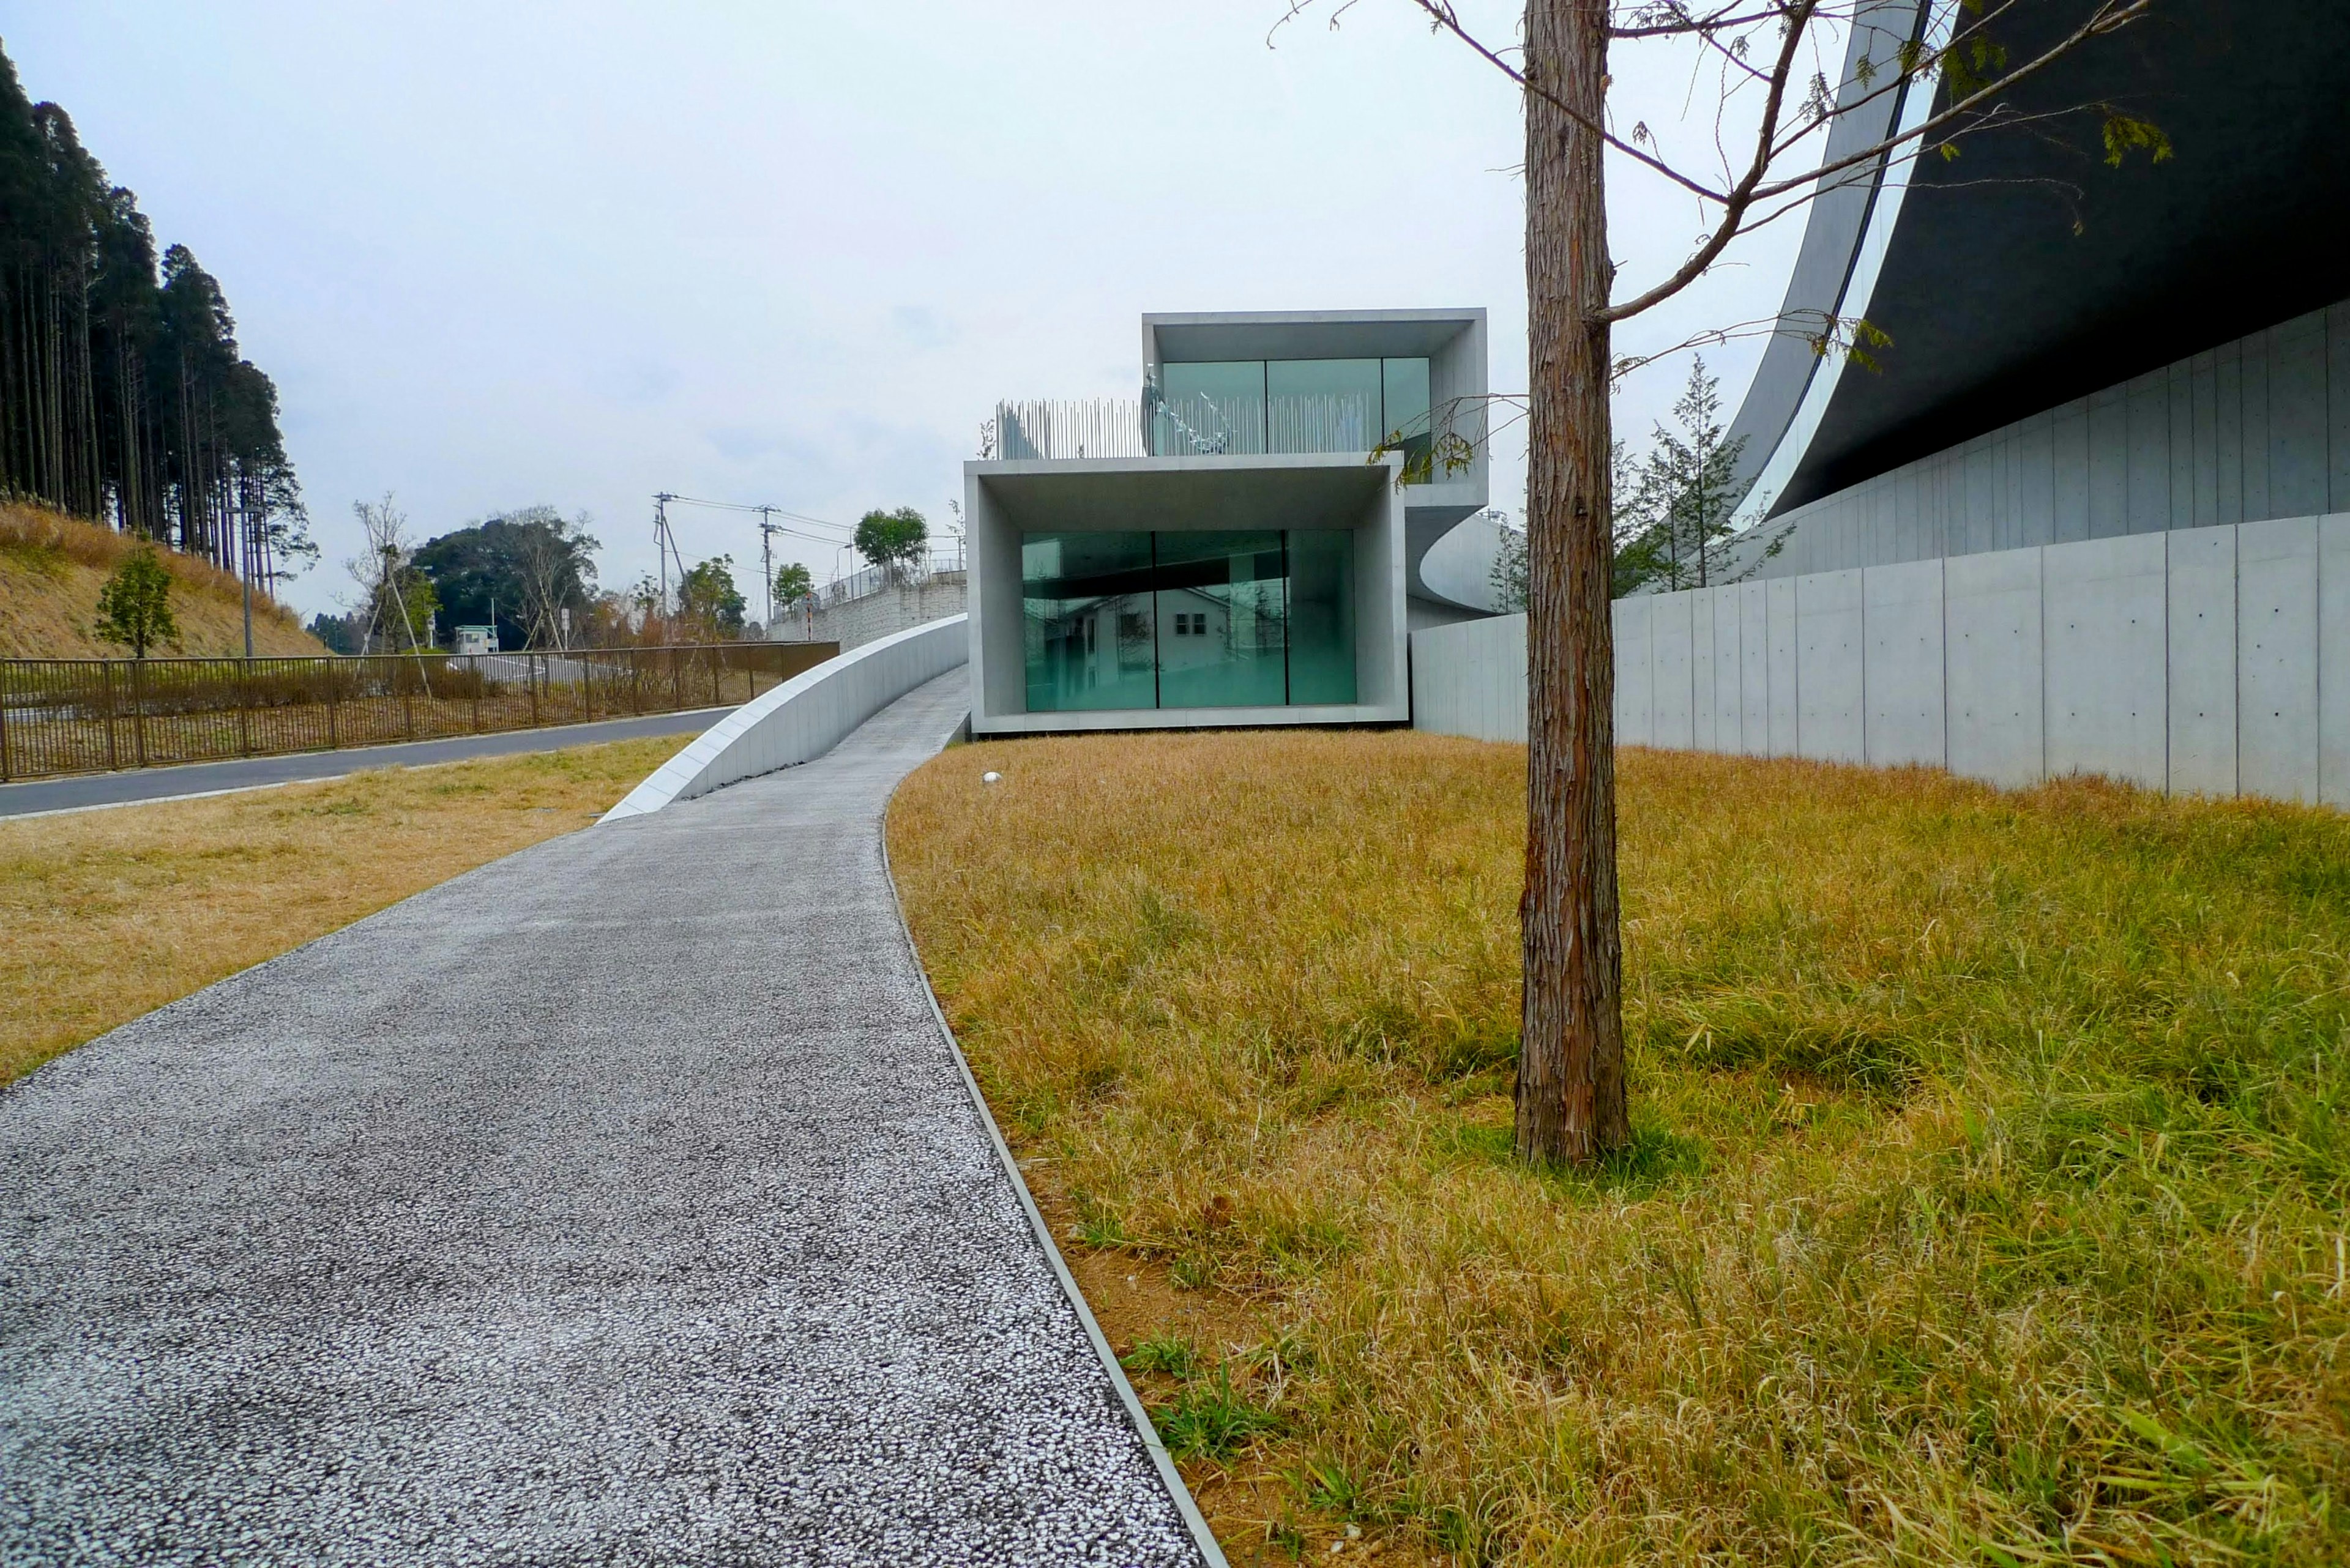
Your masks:
<svg viewBox="0 0 2350 1568"><path fill-rule="evenodd" d="M2350 301L2002 425L1760 524L1755 576L2350 510Z"/></svg>

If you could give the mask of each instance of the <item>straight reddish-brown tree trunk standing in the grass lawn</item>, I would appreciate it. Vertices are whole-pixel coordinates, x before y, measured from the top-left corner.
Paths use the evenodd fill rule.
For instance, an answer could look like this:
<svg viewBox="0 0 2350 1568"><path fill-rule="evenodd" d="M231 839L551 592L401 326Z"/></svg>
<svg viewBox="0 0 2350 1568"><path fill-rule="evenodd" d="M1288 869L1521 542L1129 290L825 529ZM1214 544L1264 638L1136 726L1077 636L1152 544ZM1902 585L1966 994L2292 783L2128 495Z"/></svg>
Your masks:
<svg viewBox="0 0 2350 1568"><path fill-rule="evenodd" d="M1607 113L1607 2L1528 0L1525 71L1544 92L1525 94L1532 451L1518 1154L1589 1161L1631 1138L1614 863L1610 362L1598 320L1612 266L1600 139L1586 129Z"/></svg>

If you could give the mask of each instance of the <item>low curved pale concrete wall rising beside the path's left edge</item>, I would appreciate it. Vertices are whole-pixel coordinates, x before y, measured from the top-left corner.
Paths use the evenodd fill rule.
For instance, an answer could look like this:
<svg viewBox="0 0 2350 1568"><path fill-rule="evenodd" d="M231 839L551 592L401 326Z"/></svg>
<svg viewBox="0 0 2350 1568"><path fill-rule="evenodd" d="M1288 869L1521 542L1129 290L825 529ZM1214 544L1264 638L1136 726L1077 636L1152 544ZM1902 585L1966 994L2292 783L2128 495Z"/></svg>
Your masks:
<svg viewBox="0 0 2350 1568"><path fill-rule="evenodd" d="M599 823L813 762L914 686L971 658L971 616L947 616L867 642L743 703L670 757Z"/></svg>

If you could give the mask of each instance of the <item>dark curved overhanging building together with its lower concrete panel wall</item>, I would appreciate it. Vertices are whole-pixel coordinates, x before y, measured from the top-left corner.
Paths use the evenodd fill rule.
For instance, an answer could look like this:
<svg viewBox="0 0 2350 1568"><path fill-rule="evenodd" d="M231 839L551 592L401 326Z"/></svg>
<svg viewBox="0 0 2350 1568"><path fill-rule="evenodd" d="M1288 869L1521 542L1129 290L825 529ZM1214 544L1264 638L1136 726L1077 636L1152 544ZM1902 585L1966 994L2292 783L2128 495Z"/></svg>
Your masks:
<svg viewBox="0 0 2350 1568"><path fill-rule="evenodd" d="M1866 7L1831 158L1941 99L1859 66L1950 14ZM2162 0L1960 158L1824 193L1732 425L1744 581L1617 602L1619 743L2350 806L2345 80L2350 7ZM2099 101L2174 155L2108 165L2063 118ZM1824 315L1875 369L1793 336ZM1523 618L1415 635L1412 684L1415 724L1523 738Z"/></svg>

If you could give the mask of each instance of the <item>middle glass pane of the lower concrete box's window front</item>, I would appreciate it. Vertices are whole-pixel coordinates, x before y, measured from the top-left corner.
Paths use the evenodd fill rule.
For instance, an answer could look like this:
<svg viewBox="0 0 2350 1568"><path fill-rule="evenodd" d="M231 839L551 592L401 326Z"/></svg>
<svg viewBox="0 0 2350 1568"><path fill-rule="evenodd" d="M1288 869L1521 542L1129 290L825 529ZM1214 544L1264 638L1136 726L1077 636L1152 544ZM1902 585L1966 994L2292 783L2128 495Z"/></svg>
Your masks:
<svg viewBox="0 0 2350 1568"><path fill-rule="evenodd" d="M1159 534L1159 705L1288 698L1281 534Z"/></svg>

